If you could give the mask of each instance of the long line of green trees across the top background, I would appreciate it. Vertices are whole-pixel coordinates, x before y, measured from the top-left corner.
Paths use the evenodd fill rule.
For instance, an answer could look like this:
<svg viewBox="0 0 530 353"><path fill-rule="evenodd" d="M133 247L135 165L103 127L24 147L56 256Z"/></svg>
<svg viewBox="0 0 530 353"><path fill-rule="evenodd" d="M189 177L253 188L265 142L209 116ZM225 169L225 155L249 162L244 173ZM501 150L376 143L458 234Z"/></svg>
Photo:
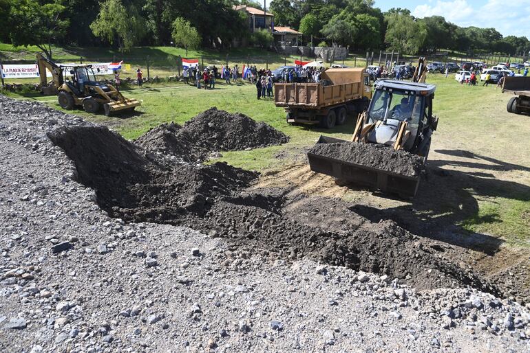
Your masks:
<svg viewBox="0 0 530 353"><path fill-rule="evenodd" d="M225 49L249 38L266 46L272 37L250 34L249 19L234 5L260 8L253 0L0 0L0 41L37 45L49 57L52 44L114 46L178 45ZM449 49L525 56L524 36L502 36L494 28L459 27L443 16L418 19L410 10L382 12L373 0L273 0L275 25L304 34L306 43L393 49L403 54Z"/></svg>

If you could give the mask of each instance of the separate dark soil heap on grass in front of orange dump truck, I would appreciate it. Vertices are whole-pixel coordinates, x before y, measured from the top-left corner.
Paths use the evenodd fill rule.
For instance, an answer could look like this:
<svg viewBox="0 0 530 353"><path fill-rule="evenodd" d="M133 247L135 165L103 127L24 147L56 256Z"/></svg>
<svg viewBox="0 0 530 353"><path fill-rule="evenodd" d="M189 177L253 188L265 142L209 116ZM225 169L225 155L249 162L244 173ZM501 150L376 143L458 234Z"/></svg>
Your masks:
<svg viewBox="0 0 530 353"><path fill-rule="evenodd" d="M162 124L136 139L136 144L166 152L185 161L206 159L211 152L245 150L285 144L289 138L264 122L213 107L193 117L184 126Z"/></svg>

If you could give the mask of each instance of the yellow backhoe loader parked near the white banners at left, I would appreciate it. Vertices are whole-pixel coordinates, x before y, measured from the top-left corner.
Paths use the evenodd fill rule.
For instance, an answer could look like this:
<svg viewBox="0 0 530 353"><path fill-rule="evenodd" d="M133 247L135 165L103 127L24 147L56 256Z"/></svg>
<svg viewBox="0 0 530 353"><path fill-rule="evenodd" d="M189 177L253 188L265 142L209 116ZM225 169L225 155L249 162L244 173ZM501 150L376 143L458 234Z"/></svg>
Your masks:
<svg viewBox="0 0 530 353"><path fill-rule="evenodd" d="M63 109L82 106L87 113L98 113L102 108L105 115L116 112L133 111L140 102L125 98L111 84L96 80L92 65L57 65L42 54L36 54L37 67L41 78L41 91L56 94ZM47 71L52 73L52 82L47 82Z"/></svg>

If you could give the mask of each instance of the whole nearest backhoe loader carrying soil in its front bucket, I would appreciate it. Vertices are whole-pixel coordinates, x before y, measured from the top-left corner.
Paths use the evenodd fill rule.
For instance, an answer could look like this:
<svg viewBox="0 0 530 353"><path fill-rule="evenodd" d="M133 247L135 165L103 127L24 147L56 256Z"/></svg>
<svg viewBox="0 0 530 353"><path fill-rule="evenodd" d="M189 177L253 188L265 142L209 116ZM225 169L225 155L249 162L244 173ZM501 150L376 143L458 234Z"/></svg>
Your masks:
<svg viewBox="0 0 530 353"><path fill-rule="evenodd" d="M436 86L425 83L425 69L421 58L412 82L377 80L368 110L357 118L352 141L321 136L307 154L311 170L403 198L415 196L421 175L396 163L425 164L438 126L432 115Z"/></svg>

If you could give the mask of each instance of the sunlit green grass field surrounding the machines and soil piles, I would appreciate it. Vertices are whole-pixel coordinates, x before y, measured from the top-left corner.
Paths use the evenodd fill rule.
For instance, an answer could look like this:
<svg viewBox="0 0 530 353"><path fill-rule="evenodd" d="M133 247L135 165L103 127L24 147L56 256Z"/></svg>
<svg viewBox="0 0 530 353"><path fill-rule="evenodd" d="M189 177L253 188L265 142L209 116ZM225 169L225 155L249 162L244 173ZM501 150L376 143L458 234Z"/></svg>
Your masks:
<svg viewBox="0 0 530 353"><path fill-rule="evenodd" d="M509 244L527 246L530 240L530 135L529 117L506 111L509 96L494 86L460 85L454 76L430 75L437 85L434 113L440 118L434 134L430 160L434 168L454 172L457 179L443 179L436 192L425 191L412 206L418 212L443 216L449 212L455 224L480 234L500 237ZM283 109L273 100L257 100L251 84L218 84L215 90L196 89L182 83L156 84L125 91L141 100L137 113L128 117L88 115L127 139L134 139L162 122L182 124L200 111L217 106L264 121L290 136L290 142L251 151L223 152L222 161L249 170L281 169L292 163L302 148L312 146L319 135L350 138L353 118L332 130L286 124ZM21 97L17 95L17 97ZM34 97L60 109L54 97ZM277 154L284 156L277 158ZM458 183L458 187L454 187ZM447 190L445 190L447 188ZM434 200L437 199L437 200ZM393 201L378 198L385 207ZM434 209L432 205L436 203ZM403 203L400 203L403 205Z"/></svg>

